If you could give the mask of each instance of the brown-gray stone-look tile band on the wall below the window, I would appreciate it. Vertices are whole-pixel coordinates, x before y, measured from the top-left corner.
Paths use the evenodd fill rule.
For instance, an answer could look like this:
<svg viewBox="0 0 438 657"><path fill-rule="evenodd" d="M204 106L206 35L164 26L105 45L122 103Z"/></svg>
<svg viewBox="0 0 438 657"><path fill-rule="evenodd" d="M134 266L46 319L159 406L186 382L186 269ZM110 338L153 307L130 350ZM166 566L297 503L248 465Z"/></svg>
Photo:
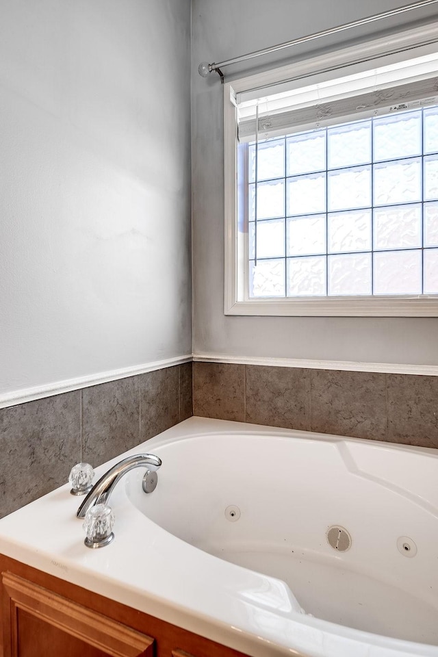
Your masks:
<svg viewBox="0 0 438 657"><path fill-rule="evenodd" d="M438 376L194 363L194 415L438 448Z"/></svg>

